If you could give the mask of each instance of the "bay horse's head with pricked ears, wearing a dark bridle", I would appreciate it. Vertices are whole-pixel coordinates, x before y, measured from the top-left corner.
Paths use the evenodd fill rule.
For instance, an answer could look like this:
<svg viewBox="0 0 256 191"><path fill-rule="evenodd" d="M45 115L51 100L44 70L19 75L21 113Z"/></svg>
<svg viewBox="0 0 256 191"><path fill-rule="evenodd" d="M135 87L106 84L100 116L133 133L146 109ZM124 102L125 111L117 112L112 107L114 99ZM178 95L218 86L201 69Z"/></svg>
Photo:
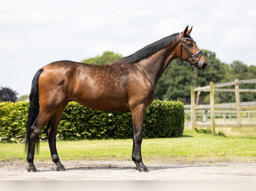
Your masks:
<svg viewBox="0 0 256 191"><path fill-rule="evenodd" d="M196 42L189 35L192 31L188 30L188 26L185 30L179 33L180 46L176 50L176 55L180 60L186 61L190 66L197 67L198 70L205 69L207 67L207 61L203 55L203 52L200 51Z"/></svg>

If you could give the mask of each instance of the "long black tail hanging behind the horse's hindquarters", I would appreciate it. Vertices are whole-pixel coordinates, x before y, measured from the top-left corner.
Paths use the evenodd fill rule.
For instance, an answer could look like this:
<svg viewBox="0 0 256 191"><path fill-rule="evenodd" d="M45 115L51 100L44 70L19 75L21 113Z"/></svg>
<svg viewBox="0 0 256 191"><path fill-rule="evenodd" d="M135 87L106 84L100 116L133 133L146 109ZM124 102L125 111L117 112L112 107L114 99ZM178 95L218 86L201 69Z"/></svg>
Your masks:
<svg viewBox="0 0 256 191"><path fill-rule="evenodd" d="M30 132L31 132L31 126L35 122L38 113L39 113L39 91L38 91L38 80L39 76L43 72L43 68L38 70L32 80L31 85L31 92L29 95L29 108L28 108L28 119L27 119L27 127L26 127L26 144L25 144L25 150L28 152L29 145L30 145ZM36 140L36 151L38 153L39 148L39 137Z"/></svg>

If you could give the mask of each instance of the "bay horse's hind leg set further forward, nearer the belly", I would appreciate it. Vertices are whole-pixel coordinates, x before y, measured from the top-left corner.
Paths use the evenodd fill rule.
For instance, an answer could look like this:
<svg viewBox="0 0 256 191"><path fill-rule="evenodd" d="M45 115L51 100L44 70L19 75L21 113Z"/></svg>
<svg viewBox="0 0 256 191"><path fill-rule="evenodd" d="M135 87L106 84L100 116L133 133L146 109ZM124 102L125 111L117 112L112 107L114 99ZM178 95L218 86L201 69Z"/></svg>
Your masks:
<svg viewBox="0 0 256 191"><path fill-rule="evenodd" d="M57 127L59 125L59 122L61 120L61 116L67 107L68 102L63 104L50 118L47 127L46 127L46 135L48 137L48 143L50 147L51 152L51 159L52 162L54 162L57 165L56 170L57 171L66 171L66 168L61 164L59 161L59 156L56 149L56 133L57 133Z"/></svg>

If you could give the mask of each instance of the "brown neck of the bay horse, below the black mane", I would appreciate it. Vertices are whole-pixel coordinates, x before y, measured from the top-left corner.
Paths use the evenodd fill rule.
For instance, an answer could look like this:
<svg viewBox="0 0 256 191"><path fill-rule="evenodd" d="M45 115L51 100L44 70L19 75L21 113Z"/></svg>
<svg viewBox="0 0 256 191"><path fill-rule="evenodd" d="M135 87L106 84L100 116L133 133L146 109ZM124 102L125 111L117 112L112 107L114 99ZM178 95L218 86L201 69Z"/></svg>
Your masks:
<svg viewBox="0 0 256 191"><path fill-rule="evenodd" d="M169 63L177 58L174 50L174 46L167 46L139 62L153 86L156 85Z"/></svg>

